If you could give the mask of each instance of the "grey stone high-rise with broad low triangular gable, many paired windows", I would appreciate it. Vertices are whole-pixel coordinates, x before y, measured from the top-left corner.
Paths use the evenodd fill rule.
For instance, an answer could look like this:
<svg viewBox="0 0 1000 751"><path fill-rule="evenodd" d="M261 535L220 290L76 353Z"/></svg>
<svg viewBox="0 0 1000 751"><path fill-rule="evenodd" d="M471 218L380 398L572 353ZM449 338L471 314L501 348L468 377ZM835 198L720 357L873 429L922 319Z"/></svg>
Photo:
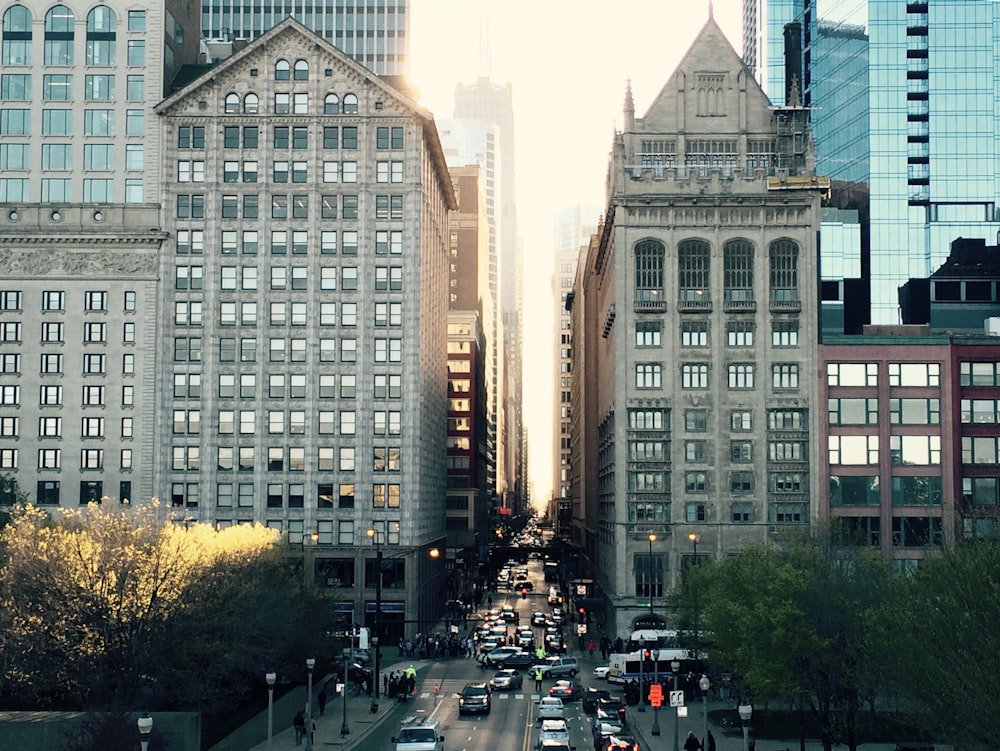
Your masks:
<svg viewBox="0 0 1000 751"><path fill-rule="evenodd" d="M455 198L433 118L293 19L157 112L158 486L304 545L357 623L380 548L394 642L444 590Z"/></svg>

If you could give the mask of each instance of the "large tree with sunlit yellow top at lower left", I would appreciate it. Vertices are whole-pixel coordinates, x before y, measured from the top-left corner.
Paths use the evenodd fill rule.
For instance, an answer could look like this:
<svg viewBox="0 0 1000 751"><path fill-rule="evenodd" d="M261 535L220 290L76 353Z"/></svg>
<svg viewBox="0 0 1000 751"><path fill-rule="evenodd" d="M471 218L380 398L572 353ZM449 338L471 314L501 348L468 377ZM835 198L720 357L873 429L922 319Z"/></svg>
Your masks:
<svg viewBox="0 0 1000 751"><path fill-rule="evenodd" d="M144 708L231 707L248 675L320 633L332 608L288 574L274 530L160 515L155 504L63 510L58 522L15 511L0 533L6 706L115 712L142 691Z"/></svg>

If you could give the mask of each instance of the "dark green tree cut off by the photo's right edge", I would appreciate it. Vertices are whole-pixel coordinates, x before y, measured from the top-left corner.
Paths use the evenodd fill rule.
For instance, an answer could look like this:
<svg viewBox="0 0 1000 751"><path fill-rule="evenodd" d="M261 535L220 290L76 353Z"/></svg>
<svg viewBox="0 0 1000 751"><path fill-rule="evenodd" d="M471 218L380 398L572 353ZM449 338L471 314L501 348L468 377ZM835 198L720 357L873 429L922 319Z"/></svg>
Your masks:
<svg viewBox="0 0 1000 751"><path fill-rule="evenodd" d="M928 729L956 747L1000 737L993 690L1000 674L1000 545L960 544L924 560L907 583L894 632L900 675Z"/></svg>

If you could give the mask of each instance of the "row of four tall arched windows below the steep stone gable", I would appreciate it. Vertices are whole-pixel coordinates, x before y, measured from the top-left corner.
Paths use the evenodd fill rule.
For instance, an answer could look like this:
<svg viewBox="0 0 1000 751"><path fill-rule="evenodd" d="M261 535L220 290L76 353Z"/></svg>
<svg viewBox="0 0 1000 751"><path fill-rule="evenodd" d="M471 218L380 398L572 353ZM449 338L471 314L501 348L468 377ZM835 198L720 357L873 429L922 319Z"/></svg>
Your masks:
<svg viewBox="0 0 1000 751"><path fill-rule="evenodd" d="M677 245L677 287L681 303L711 300L711 245L683 240ZM641 240L635 246L635 300L662 303L666 246L659 240ZM769 289L772 302L798 301L798 245L788 239L768 246ZM747 240L723 245L723 288L727 302L753 302L754 246Z"/></svg>

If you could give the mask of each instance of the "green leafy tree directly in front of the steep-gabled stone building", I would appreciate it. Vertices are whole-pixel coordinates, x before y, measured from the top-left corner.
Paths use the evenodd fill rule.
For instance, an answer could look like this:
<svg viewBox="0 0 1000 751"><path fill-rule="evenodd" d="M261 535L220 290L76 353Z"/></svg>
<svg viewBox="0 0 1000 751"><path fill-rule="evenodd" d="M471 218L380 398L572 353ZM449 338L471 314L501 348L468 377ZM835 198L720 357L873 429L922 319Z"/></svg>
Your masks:
<svg viewBox="0 0 1000 751"><path fill-rule="evenodd" d="M693 567L687 579L676 600L681 628L699 620L717 659L755 701L808 706L826 751L842 734L855 751L858 714L874 700L886 665L893 601L886 562L873 551L835 557L799 541L787 550L745 548Z"/></svg>

